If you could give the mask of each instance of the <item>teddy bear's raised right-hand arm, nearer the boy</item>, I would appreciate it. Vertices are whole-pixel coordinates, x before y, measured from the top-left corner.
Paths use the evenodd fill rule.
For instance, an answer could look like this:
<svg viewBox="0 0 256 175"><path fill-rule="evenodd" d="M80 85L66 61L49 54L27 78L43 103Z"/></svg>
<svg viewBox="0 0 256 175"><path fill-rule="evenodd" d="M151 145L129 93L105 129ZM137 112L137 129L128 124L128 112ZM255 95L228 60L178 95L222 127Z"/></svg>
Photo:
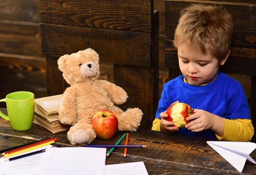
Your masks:
<svg viewBox="0 0 256 175"><path fill-rule="evenodd" d="M100 82L105 90L108 92L108 96L112 100L112 102L114 102L115 104L123 104L124 102L126 102L128 96L125 90L106 80L100 80Z"/></svg>

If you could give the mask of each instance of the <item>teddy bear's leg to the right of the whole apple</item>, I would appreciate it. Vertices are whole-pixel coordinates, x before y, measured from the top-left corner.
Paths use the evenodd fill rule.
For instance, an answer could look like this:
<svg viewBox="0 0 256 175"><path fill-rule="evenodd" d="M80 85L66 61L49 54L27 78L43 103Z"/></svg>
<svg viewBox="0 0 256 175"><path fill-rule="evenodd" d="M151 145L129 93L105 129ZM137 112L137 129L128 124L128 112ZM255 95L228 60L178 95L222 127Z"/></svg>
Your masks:
<svg viewBox="0 0 256 175"><path fill-rule="evenodd" d="M143 112L139 108L129 108L118 117L118 129L120 131L136 131L140 126Z"/></svg>

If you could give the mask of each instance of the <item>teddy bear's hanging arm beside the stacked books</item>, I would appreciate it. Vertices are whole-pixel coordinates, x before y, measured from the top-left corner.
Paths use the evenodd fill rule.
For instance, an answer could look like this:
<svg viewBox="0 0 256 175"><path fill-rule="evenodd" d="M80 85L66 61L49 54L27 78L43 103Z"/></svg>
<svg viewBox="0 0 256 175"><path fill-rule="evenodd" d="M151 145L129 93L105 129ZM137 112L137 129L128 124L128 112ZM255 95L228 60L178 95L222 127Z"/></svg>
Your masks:
<svg viewBox="0 0 256 175"><path fill-rule="evenodd" d="M59 109L59 121L62 124L73 125L76 123L76 98L72 87L67 88L63 93L61 107Z"/></svg>

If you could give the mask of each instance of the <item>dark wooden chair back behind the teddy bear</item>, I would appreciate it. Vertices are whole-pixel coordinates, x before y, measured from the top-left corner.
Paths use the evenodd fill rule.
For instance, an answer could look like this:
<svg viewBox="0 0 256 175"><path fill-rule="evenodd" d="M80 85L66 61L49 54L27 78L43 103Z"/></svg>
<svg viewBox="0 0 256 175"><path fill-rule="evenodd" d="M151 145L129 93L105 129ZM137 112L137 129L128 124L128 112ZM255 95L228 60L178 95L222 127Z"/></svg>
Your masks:
<svg viewBox="0 0 256 175"><path fill-rule="evenodd" d="M150 128L159 81L158 20L154 22L158 12L153 12L153 0L40 0L40 13L47 95L63 93L68 86L57 59L90 47L100 63L113 64L114 83L128 93L121 107L142 109L141 128Z"/></svg>

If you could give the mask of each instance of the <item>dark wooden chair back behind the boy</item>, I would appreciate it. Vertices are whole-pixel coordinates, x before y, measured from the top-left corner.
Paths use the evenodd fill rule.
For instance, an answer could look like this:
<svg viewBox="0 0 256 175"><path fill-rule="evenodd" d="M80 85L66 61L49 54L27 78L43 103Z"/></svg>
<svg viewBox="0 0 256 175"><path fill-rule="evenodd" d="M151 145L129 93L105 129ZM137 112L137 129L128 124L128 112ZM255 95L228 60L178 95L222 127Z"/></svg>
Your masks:
<svg viewBox="0 0 256 175"><path fill-rule="evenodd" d="M230 12L233 17L233 36L231 41L231 53L221 71L229 74L251 76L250 109L253 125L256 126L256 4L228 3L228 2L204 2L198 0L166 0L166 46L165 66L169 68L171 78L179 74L177 51L172 45L174 32L177 26L180 11L192 3L204 3L208 5L221 5ZM256 141L256 138L253 138Z"/></svg>

